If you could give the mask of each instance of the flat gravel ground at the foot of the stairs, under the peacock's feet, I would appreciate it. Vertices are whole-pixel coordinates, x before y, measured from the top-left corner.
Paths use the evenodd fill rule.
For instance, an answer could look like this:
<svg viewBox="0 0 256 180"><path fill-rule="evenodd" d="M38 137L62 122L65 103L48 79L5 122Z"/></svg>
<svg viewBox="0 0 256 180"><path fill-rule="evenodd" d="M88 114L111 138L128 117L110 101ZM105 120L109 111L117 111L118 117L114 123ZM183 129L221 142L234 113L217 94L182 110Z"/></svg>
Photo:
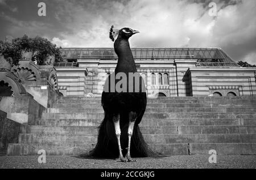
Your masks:
<svg viewBox="0 0 256 180"><path fill-rule="evenodd" d="M136 162L115 162L112 159L93 159L75 156L46 156L39 164L39 156L0 156L0 168L256 168L256 155L217 155L217 163L210 164L208 155L134 158Z"/></svg>

